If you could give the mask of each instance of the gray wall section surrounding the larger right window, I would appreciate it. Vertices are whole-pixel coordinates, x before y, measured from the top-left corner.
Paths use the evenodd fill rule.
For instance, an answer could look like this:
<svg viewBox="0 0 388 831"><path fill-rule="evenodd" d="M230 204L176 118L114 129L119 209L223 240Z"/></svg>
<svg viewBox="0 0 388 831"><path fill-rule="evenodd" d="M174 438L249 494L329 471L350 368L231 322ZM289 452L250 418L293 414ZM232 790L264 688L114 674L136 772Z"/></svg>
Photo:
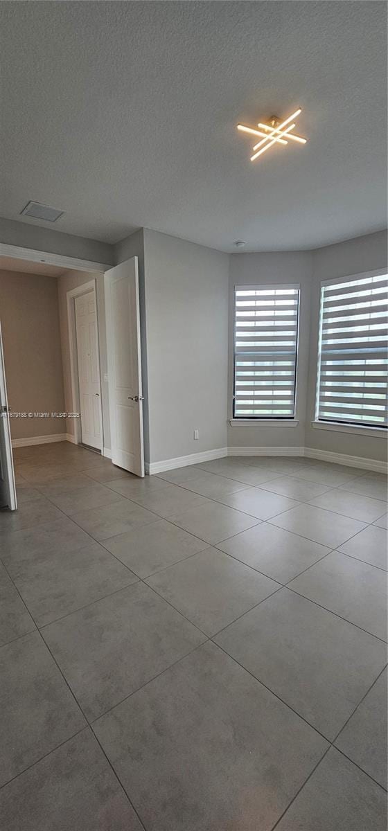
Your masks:
<svg viewBox="0 0 388 831"><path fill-rule="evenodd" d="M321 281L386 268L386 243L386 231L379 231L365 237L348 239L344 243L328 245L326 248L317 248L312 253L311 340L305 440L307 447L366 459L386 460L386 435L367 436L361 432L343 433L312 427L315 413Z"/></svg>

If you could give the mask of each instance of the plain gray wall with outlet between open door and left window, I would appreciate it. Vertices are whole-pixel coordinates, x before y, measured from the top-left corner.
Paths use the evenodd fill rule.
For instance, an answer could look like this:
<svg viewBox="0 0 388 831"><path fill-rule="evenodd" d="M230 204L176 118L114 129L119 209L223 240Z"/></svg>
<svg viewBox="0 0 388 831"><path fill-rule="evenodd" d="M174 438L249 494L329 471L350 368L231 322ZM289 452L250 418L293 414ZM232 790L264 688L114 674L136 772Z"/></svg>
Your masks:
<svg viewBox="0 0 388 831"><path fill-rule="evenodd" d="M145 229L145 308L150 461L225 447L228 255Z"/></svg>

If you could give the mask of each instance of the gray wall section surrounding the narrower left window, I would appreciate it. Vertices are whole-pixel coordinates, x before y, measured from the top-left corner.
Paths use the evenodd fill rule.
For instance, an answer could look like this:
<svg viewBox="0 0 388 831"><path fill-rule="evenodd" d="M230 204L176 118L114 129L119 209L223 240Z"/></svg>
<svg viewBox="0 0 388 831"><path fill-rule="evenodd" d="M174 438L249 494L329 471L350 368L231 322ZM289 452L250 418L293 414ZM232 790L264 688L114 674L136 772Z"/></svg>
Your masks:
<svg viewBox="0 0 388 831"><path fill-rule="evenodd" d="M299 283L301 306L299 347L297 356L297 419L299 425L264 427L228 425L230 447L302 447L306 421L307 369L310 340L310 289L312 253L275 252L232 254L229 267L229 360L228 360L228 419L233 413L233 297L234 286L253 286L258 283L284 285Z"/></svg>

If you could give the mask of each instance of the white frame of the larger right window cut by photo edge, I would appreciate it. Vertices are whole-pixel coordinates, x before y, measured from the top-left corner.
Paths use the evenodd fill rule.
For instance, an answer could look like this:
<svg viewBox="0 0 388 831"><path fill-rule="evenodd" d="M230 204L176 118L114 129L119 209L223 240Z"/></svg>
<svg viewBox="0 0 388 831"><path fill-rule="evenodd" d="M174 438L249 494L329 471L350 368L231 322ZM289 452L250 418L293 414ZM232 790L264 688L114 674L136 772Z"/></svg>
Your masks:
<svg viewBox="0 0 388 831"><path fill-rule="evenodd" d="M353 280L363 280L372 277L384 277L388 274L388 268L376 268L372 271L360 272L357 274L346 274L343 277L322 280L319 288L319 315L318 315L318 338L317 338L317 361L316 361L316 385L314 402L314 420L312 427L321 430L336 430L341 433L356 433L358 435L371 435L374 437L386 438L388 427L386 425L357 424L354 421L326 420L319 418L319 389L321 386L321 363L322 363L322 314L323 314L323 288L325 286L340 286L341 283L351 283ZM387 347L388 349L388 347Z"/></svg>

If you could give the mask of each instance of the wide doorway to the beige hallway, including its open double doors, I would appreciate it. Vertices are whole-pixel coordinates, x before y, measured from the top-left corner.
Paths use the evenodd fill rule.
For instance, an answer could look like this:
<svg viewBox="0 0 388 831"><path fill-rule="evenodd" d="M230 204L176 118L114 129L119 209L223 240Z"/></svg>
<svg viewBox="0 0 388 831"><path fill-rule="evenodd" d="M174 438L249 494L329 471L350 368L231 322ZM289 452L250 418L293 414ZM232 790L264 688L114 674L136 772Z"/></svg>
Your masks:
<svg viewBox="0 0 388 831"><path fill-rule="evenodd" d="M2 246L0 301L7 321L0 506L17 508L15 448L40 458L38 448L26 454L30 445L68 441L144 476L137 258L110 268ZM47 448L42 466L49 456Z"/></svg>

